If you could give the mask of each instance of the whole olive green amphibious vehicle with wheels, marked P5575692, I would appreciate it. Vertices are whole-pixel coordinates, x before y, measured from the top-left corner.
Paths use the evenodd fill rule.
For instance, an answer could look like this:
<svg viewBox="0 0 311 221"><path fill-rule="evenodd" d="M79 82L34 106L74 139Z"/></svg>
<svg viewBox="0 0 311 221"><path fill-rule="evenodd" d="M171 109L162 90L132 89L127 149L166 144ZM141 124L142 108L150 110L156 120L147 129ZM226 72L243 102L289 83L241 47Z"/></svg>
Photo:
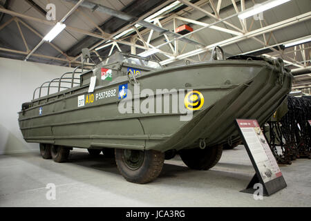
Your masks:
<svg viewBox="0 0 311 221"><path fill-rule="evenodd" d="M120 173L140 184L158 177L176 153L191 169L210 169L223 145L240 139L234 120L263 126L292 85L281 59L221 53L164 68L119 52L82 73L77 67L44 82L22 105L23 138L55 162L66 161L73 147L113 151ZM91 59L86 50L84 59Z"/></svg>

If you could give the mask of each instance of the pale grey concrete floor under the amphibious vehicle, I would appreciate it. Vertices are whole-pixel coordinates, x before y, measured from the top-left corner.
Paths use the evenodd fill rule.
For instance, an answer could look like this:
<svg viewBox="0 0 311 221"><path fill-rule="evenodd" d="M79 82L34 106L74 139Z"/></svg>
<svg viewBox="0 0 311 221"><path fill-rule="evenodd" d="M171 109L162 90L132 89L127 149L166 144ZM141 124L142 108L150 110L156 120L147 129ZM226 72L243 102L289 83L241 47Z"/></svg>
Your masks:
<svg viewBox="0 0 311 221"><path fill-rule="evenodd" d="M241 193L254 175L244 146L223 152L209 171L192 171L179 157L166 161L150 184L126 182L114 160L74 149L67 163L38 153L0 156L0 206L311 206L311 160L281 166L288 187L263 200ZM46 200L46 184L56 200Z"/></svg>

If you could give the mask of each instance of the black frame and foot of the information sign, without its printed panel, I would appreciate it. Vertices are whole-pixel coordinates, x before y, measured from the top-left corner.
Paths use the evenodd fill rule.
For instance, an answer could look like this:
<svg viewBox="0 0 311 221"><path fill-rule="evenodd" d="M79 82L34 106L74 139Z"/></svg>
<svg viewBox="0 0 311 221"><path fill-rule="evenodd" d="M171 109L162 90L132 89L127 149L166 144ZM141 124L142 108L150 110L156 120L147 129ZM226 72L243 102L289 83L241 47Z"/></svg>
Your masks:
<svg viewBox="0 0 311 221"><path fill-rule="evenodd" d="M254 169L256 171L256 174L254 175L254 177L252 177L252 180L249 182L249 184L247 185L246 189L242 190L242 193L251 193L254 194L254 191L256 191L256 189L253 189L254 184L256 183L260 183L263 185L263 195L264 196L269 196L272 195L273 193L276 193L277 191L280 191L281 189L284 189L287 184L284 180L283 175L281 175L280 177L276 177L274 180L270 180L268 182L263 182L263 178L261 177L261 173L258 169L258 166L254 160L254 156L252 155L252 151L250 151L250 147L246 140L245 137L241 131L240 126L238 126L238 121L236 119L236 126L238 127L238 132L240 133L240 136L242 137L243 140L243 144L246 148L247 154L249 155L249 158L254 166Z"/></svg>

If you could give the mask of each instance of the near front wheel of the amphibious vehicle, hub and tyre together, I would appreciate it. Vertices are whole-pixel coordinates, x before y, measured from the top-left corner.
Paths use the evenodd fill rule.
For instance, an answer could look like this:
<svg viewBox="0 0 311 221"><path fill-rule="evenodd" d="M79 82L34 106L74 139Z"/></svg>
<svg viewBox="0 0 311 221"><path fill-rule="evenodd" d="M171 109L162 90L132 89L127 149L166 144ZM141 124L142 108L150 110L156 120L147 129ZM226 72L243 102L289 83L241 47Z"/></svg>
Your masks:
<svg viewBox="0 0 311 221"><path fill-rule="evenodd" d="M162 171L164 153L115 149L115 162L121 175L129 182L145 184L155 180Z"/></svg>

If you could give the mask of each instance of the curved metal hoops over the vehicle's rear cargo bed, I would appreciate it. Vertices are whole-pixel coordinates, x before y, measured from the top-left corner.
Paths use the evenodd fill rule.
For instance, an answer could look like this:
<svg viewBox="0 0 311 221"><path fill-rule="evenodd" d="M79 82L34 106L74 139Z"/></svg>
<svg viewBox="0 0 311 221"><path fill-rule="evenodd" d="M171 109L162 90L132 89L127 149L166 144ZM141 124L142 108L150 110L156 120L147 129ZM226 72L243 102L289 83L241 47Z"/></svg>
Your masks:
<svg viewBox="0 0 311 221"><path fill-rule="evenodd" d="M32 99L35 99L35 94L36 94L37 90L39 90L39 97L37 97L37 99L39 99L41 97L42 88L48 88L47 95L50 95L50 88L57 88L57 92L60 92L61 88L70 89L70 88L73 88L73 86L75 86L77 84L80 84L80 82L75 82L75 80L79 80L80 81L80 78L75 77L75 74L81 74L81 72L76 72L77 68L81 68L81 66L77 66L73 70L73 72L64 73L64 75L62 75L61 77L57 77L57 78L55 78L55 79L53 79L51 81L46 81L43 84L41 84L41 86L36 88L35 91L33 92ZM71 77L64 77L66 75L71 75ZM68 79L71 79L71 81L66 81ZM63 81L63 80L65 80L65 81ZM58 83L58 85L57 86L52 86L51 84L53 84L53 83ZM62 86L62 83L70 84L70 87L69 86L64 86L64 85ZM46 84L48 84L48 86L46 86ZM47 95L45 95L45 96L47 96Z"/></svg>

